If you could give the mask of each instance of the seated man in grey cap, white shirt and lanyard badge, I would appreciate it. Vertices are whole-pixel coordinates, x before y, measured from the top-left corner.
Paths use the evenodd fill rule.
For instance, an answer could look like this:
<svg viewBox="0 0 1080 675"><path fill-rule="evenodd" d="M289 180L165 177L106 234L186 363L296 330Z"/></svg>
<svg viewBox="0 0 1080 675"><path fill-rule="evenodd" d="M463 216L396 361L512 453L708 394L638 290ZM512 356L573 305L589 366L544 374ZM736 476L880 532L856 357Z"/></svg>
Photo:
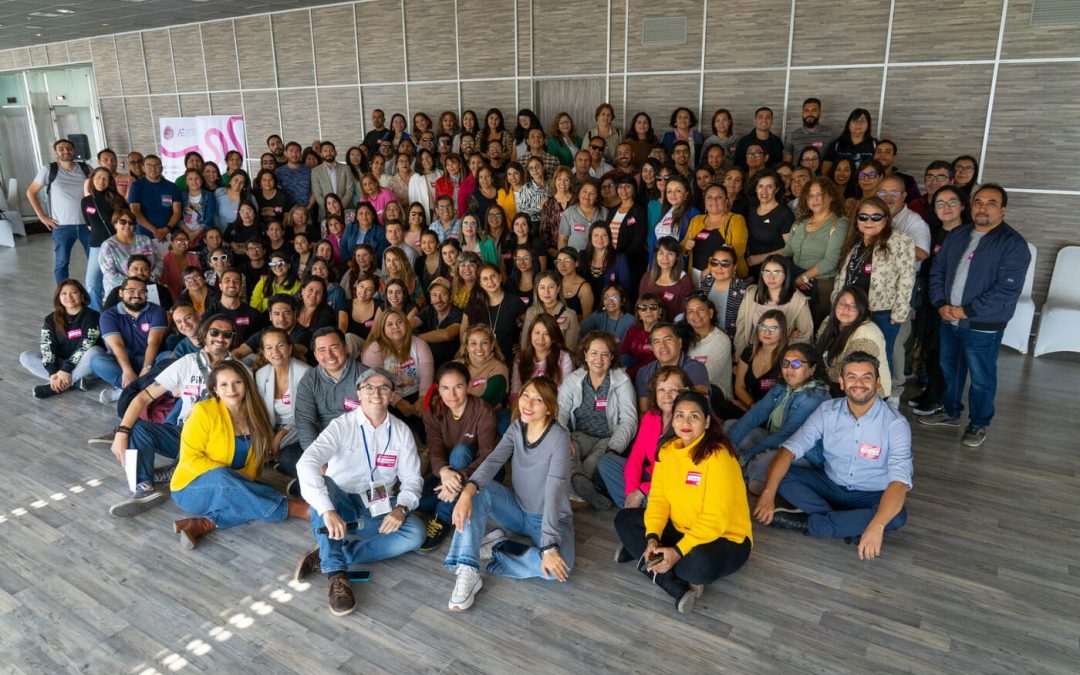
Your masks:
<svg viewBox="0 0 1080 675"><path fill-rule="evenodd" d="M335 617L356 609L347 577L351 566L397 557L423 543L423 524L409 515L423 487L420 458L408 426L389 415L393 390L393 378L382 368L361 374L356 408L332 421L296 465L319 544L300 559L296 579L326 575ZM354 536L347 541L348 530Z"/></svg>

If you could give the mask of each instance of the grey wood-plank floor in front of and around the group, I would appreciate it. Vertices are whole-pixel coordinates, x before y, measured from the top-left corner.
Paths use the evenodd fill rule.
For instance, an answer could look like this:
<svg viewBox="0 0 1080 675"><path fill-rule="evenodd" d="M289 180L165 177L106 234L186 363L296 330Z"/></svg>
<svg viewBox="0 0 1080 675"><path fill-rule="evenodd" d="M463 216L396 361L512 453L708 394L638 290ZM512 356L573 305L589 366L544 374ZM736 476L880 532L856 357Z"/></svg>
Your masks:
<svg viewBox="0 0 1080 675"><path fill-rule="evenodd" d="M82 274L82 254L72 275ZM0 672L1076 673L1080 480L1076 359L1004 352L985 446L914 426L907 526L883 556L758 527L750 563L690 616L611 561L613 511L579 514L565 585L488 577L451 613L442 551L374 567L336 619L294 585L298 522L181 551L171 503L110 518L120 469L86 438L97 392L36 402L18 353L52 293L44 235L0 249Z"/></svg>

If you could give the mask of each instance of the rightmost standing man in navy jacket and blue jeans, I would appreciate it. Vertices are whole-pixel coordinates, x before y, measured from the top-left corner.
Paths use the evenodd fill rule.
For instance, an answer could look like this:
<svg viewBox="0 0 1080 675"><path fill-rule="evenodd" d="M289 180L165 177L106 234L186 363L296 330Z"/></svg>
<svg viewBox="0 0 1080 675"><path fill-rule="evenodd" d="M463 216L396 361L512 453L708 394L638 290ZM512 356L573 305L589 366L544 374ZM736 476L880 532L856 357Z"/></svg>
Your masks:
<svg viewBox="0 0 1080 675"><path fill-rule="evenodd" d="M959 427L970 375L969 422L961 441L968 447L983 444L994 418L1001 336L1031 261L1024 237L1005 222L1008 205L1004 188L993 183L981 187L971 200L974 224L953 230L930 268L930 301L942 318L945 409L920 417L919 423Z"/></svg>

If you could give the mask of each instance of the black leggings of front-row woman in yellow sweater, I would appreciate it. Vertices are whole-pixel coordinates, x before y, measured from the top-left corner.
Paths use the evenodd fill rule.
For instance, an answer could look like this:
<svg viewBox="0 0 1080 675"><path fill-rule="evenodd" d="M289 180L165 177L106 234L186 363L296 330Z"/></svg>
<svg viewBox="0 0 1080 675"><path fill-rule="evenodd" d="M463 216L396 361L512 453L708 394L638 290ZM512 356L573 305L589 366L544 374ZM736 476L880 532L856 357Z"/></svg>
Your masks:
<svg viewBox="0 0 1080 675"><path fill-rule="evenodd" d="M615 516L615 530L626 552L635 558L645 553L645 509L623 509ZM671 521L660 535L660 545L674 546L683 538ZM723 537L698 544L675 564L671 572L687 583L706 584L742 567L750 557L751 542L735 543Z"/></svg>

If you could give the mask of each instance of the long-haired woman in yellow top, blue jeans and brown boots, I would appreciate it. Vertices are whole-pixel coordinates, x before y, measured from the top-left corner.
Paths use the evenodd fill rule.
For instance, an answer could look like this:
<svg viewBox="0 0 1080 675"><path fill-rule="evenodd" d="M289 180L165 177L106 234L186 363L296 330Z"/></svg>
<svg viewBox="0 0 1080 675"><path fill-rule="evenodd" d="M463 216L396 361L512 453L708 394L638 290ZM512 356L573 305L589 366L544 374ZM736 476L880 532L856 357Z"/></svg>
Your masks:
<svg viewBox="0 0 1080 675"><path fill-rule="evenodd" d="M255 380L239 361L214 366L211 397L195 403L180 434L180 459L171 488L176 505L195 517L173 524L180 545L193 549L218 527L249 521L308 518L308 504L288 499L256 478L273 441L273 428Z"/></svg>

